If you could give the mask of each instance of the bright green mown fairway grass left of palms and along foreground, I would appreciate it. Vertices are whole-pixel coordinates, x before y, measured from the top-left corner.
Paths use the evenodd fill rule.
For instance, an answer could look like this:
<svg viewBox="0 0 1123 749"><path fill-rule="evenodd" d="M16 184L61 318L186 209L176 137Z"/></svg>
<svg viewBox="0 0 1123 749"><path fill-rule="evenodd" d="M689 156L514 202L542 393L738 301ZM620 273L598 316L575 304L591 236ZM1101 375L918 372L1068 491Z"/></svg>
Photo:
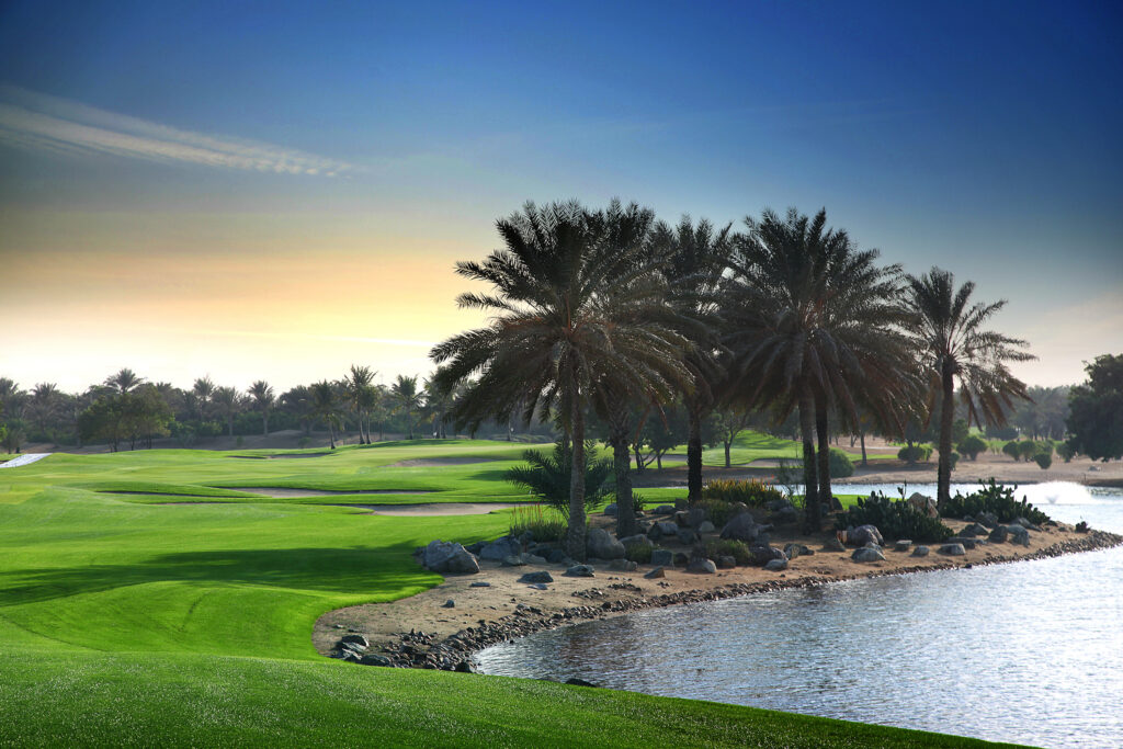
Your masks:
<svg viewBox="0 0 1123 749"><path fill-rule="evenodd" d="M310 636L321 613L440 582L413 564L413 547L506 529L505 513L384 518L319 503L510 501L518 493L499 474L522 447L390 444L299 459L55 455L0 471L0 746L978 743L319 657ZM463 462L478 458L492 459ZM263 500L229 488L238 486L430 493ZM121 491L141 493L110 493ZM222 503L159 504L171 494Z"/></svg>

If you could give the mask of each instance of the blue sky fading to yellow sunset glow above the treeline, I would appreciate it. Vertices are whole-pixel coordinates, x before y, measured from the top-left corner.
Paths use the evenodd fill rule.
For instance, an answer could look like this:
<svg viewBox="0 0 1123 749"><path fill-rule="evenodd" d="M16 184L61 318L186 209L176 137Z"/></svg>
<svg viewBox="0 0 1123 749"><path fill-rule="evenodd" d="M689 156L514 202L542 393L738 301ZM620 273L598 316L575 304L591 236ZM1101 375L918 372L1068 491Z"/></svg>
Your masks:
<svg viewBox="0 0 1123 749"><path fill-rule="evenodd" d="M1123 351L1111 2L0 2L0 376L426 374L526 201L827 208L1007 300L1030 384Z"/></svg>

